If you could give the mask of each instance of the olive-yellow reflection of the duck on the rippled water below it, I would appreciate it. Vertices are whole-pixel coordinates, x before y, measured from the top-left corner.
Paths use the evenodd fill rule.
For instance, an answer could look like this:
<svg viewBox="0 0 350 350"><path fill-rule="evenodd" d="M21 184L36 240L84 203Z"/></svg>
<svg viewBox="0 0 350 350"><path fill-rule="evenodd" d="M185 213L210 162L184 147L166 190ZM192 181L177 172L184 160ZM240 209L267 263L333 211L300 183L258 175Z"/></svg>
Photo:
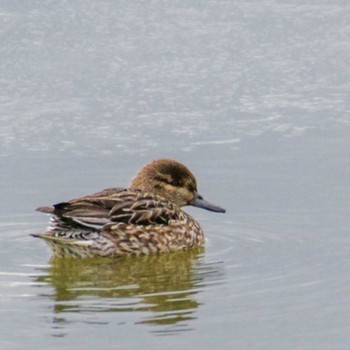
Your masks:
<svg viewBox="0 0 350 350"><path fill-rule="evenodd" d="M56 320L65 312L141 311L135 323L177 324L196 318L197 293L206 278L221 274L215 264L206 266L203 250L117 260L53 259L38 280L54 287Z"/></svg>

